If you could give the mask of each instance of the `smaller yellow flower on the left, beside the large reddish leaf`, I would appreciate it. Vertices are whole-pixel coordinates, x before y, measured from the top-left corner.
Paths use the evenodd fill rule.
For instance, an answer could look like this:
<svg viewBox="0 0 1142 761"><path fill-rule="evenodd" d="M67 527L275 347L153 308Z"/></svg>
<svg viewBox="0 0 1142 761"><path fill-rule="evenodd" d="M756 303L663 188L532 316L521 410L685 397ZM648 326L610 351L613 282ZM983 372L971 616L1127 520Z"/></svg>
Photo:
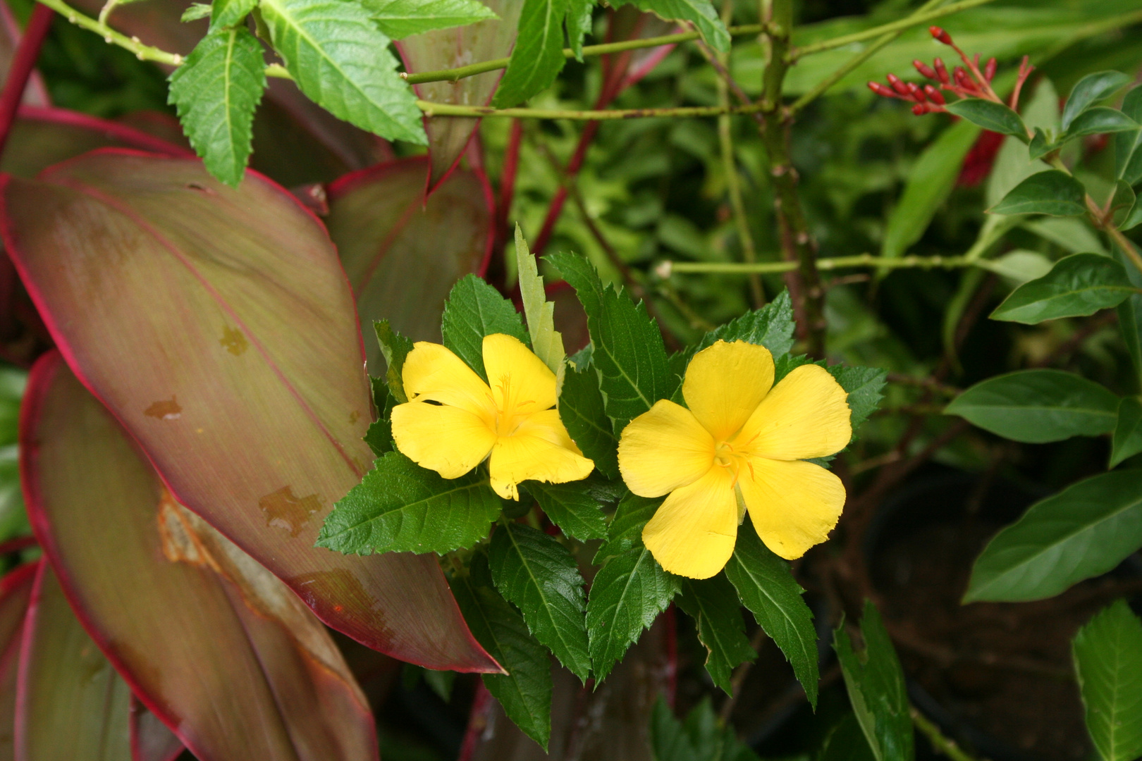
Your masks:
<svg viewBox="0 0 1142 761"><path fill-rule="evenodd" d="M459 478L489 458L492 488L518 500L525 480L586 478L582 456L555 408L555 374L510 335L485 335L491 387L440 343L419 341L401 378L409 400L393 407L396 448L421 468Z"/></svg>

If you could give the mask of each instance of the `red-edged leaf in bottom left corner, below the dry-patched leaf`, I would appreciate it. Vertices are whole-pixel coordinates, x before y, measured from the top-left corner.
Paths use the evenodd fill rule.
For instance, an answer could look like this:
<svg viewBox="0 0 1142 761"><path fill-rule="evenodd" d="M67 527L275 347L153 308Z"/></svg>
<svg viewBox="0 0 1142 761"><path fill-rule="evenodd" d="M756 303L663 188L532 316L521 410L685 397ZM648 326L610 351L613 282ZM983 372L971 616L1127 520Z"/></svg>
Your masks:
<svg viewBox="0 0 1142 761"><path fill-rule="evenodd" d="M24 624L16 694L16 761L130 761L131 690L39 562Z"/></svg>

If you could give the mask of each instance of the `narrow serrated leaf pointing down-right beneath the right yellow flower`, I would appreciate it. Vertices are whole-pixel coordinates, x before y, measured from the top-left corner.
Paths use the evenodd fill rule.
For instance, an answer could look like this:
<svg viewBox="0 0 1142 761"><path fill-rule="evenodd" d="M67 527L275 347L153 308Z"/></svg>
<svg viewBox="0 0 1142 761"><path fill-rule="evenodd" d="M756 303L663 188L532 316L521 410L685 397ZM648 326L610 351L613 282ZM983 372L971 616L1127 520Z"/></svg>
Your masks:
<svg viewBox="0 0 1142 761"><path fill-rule="evenodd" d="M725 575L738 590L741 604L785 653L810 704L815 706L820 679L817 630L813 613L802 598L805 590L794 580L789 564L773 554L753 527L743 526Z"/></svg>

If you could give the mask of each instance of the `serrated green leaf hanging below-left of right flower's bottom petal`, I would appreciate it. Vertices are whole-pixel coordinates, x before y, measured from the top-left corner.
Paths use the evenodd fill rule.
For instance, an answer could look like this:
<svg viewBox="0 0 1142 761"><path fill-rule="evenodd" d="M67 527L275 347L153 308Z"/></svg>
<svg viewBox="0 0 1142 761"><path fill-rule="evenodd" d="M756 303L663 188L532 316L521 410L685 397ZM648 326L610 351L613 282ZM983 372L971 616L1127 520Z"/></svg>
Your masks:
<svg viewBox="0 0 1142 761"><path fill-rule="evenodd" d="M678 578L662 570L644 547L627 550L600 568L587 600L596 685L611 673L614 663L677 592Z"/></svg>

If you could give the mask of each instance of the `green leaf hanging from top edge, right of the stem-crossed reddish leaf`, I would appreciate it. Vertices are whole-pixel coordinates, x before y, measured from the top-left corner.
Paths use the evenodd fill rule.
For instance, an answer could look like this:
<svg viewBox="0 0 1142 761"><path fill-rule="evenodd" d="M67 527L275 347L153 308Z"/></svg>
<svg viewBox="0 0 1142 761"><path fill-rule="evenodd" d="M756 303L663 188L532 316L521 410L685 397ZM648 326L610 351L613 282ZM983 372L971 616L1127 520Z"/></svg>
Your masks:
<svg viewBox="0 0 1142 761"><path fill-rule="evenodd" d="M516 106L542 92L563 71L563 19L569 0L524 0L515 49L492 97L497 108Z"/></svg>

